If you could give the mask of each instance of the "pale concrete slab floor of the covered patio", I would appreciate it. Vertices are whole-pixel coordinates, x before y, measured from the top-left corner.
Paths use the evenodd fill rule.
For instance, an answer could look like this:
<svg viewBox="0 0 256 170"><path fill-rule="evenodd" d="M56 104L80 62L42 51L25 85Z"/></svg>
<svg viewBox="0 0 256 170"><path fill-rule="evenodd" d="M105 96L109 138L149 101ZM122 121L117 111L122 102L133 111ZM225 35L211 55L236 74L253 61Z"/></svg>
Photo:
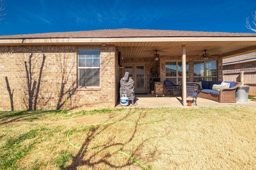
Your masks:
<svg viewBox="0 0 256 170"><path fill-rule="evenodd" d="M187 102L191 98L187 98ZM236 102L236 103L219 103L216 101L198 98L197 105L192 103L191 107L227 107L227 106L256 106L256 101L248 99L247 102ZM134 106L132 106L131 101L129 101L128 106L121 106L118 104L116 108L120 107L189 107L182 105L182 99L180 96L170 96L156 97L151 94L135 95Z"/></svg>

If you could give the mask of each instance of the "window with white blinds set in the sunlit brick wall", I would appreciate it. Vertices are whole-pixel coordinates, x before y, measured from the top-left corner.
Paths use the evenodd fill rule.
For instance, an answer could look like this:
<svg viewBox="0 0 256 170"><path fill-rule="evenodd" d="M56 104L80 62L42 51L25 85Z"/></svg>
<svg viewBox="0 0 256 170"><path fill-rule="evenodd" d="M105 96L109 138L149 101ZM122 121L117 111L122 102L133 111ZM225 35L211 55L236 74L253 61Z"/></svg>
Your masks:
<svg viewBox="0 0 256 170"><path fill-rule="evenodd" d="M100 49L78 50L78 87L100 87Z"/></svg>

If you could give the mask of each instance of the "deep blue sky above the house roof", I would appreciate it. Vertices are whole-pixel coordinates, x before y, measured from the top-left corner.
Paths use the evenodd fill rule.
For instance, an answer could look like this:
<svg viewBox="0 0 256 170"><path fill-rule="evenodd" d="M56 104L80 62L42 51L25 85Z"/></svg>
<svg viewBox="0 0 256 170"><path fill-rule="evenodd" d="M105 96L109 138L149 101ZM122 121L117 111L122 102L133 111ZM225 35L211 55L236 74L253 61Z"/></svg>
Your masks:
<svg viewBox="0 0 256 170"><path fill-rule="evenodd" d="M0 35L118 28L249 32L256 0L5 0Z"/></svg>

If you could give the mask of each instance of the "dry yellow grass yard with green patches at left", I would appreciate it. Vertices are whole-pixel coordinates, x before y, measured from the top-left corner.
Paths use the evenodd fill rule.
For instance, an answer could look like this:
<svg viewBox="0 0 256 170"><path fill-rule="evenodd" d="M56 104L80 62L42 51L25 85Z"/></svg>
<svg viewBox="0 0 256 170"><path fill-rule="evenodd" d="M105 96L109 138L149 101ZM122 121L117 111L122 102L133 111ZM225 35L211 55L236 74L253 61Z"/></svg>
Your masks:
<svg viewBox="0 0 256 170"><path fill-rule="evenodd" d="M255 110L0 112L0 169L256 169Z"/></svg>

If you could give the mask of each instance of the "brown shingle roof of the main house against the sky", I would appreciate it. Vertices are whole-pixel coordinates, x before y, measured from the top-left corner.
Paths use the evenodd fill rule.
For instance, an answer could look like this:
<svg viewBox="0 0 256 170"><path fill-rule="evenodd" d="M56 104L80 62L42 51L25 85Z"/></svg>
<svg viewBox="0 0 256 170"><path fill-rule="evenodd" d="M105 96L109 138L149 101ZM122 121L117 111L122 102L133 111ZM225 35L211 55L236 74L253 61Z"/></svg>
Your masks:
<svg viewBox="0 0 256 170"><path fill-rule="evenodd" d="M0 36L0 39L22 38L129 38L129 37L256 37L255 33L196 32L174 30L115 29L76 32L54 32Z"/></svg>

